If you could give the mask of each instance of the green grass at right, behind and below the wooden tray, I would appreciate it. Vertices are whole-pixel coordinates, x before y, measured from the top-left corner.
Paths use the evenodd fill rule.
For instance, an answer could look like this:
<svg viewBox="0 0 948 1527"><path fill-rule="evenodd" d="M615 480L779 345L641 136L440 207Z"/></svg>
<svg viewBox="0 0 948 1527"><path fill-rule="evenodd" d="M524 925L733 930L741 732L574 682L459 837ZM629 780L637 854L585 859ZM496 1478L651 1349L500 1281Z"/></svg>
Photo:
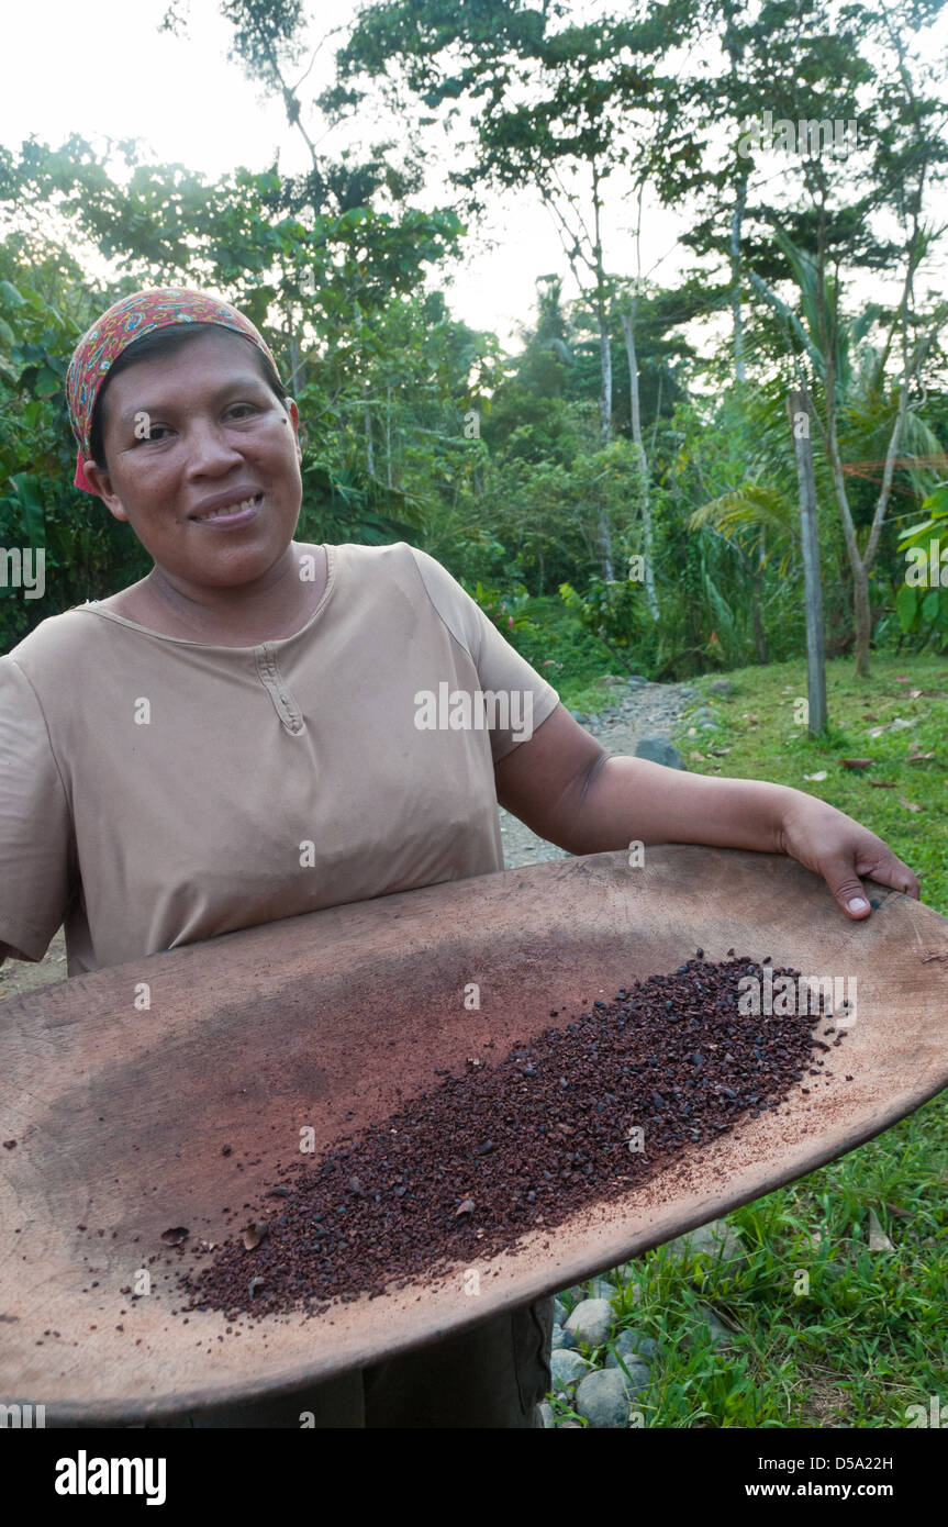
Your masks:
<svg viewBox="0 0 948 1527"><path fill-rule="evenodd" d="M692 738L687 715L675 741L693 771L794 785L866 823L919 875L922 899L948 913L948 660L873 655L872 667L872 678L855 680L850 660L827 666L823 738L794 721L803 661L730 673L730 696L695 680L702 698L692 710L713 710L719 727ZM896 718L911 725L870 736ZM933 757L913 762L910 751ZM841 757L875 762L852 771ZM821 771L823 780L805 779ZM928 1412L931 1396L948 1411L946 1185L942 1093L878 1139L728 1214L746 1252L739 1270L658 1248L632 1277L615 1275L615 1335L632 1327L658 1341L652 1383L634 1406L643 1425L904 1428L907 1408ZM893 1251L869 1249L870 1209ZM699 1303L733 1332L728 1348L711 1345ZM589 1356L601 1365L606 1350ZM554 1414L579 1420L565 1399Z"/></svg>

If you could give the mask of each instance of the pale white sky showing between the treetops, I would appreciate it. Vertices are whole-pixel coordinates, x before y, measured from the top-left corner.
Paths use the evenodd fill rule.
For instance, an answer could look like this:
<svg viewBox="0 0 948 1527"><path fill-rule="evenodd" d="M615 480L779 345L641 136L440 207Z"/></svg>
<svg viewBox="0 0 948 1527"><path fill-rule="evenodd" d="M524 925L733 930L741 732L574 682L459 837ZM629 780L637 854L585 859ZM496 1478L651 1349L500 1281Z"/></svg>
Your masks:
<svg viewBox="0 0 948 1527"><path fill-rule="evenodd" d="M3 21L6 67L0 90L0 142L18 148L37 137L60 144L70 133L102 142L139 137L143 151L162 162L180 162L214 177L237 165L269 168L276 154L284 173L308 168L308 150L285 121L282 104L266 99L244 78L240 63L227 60L232 31L218 14L217 0L179 0L188 18L188 37L160 32L168 0L40 0L8 9ZM347 29L359 9L356 0L307 3L313 18L308 41L314 47L333 27ZM574 17L594 15L598 0L576 0ZM621 5L615 6L621 11ZM942 18L948 23L948 17ZM948 24L939 26L943 46ZM305 92L313 93L333 78L336 38L328 37L316 55ZM308 56L305 60L308 63ZM290 78L295 81L305 63ZM304 93L305 99L305 93ZM322 153L334 157L350 130L331 128L311 116L310 136ZM376 127L376 124L372 124ZM377 124L385 136L397 124ZM450 168L429 162L426 205L438 203L440 183ZM940 211L948 221L948 202ZM609 205L608 264L635 272L634 231L637 211L623 199L621 186ZM690 263L679 244L682 220L646 203L641 237L643 273L670 284ZM449 286L452 312L475 328L492 330L513 344L521 324L534 313L537 275L557 270L565 276L565 295L576 289L568 275L550 214L536 194L493 199L487 223L467 243ZM443 276L435 279L441 281ZM892 289L895 292L895 287ZM878 290L872 292L878 296ZM885 293L890 295L890 293Z"/></svg>

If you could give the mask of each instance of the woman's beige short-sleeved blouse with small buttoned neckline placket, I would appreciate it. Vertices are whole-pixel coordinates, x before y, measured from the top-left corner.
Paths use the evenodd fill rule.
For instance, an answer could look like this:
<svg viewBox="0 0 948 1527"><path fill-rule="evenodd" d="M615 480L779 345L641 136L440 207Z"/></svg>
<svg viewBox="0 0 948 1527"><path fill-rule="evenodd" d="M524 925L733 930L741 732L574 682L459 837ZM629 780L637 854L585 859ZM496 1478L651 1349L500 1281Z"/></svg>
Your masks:
<svg viewBox="0 0 948 1527"><path fill-rule="evenodd" d="M427 553L325 550L292 637L212 646L87 603L0 658L15 956L66 924L76 976L504 869L493 765L556 690Z"/></svg>

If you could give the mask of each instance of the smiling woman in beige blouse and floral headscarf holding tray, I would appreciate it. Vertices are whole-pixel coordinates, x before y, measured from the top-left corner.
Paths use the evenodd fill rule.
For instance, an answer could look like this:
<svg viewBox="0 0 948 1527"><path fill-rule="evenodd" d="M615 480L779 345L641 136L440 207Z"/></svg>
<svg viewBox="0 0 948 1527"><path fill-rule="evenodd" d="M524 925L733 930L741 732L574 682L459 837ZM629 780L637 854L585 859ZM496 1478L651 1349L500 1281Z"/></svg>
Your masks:
<svg viewBox="0 0 948 1527"><path fill-rule="evenodd" d="M792 854L853 919L870 915L859 875L919 895L881 838L811 796L608 757L426 553L295 542L298 409L229 304L114 304L76 347L67 403L76 486L154 567L0 658L0 957L41 959L64 922L75 976L501 870L498 800L572 854ZM424 727L418 696L443 684L521 704L510 725ZM194 1423L536 1426L550 1322L543 1299Z"/></svg>

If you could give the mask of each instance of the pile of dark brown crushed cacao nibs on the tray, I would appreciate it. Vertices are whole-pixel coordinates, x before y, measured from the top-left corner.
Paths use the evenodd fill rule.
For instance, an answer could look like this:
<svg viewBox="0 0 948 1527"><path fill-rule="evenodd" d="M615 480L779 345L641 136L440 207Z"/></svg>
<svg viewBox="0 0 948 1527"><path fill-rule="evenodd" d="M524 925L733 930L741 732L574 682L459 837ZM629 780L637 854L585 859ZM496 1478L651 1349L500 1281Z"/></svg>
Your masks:
<svg viewBox="0 0 948 1527"><path fill-rule="evenodd" d="M514 1044L498 1064L469 1060L328 1154L278 1167L284 1182L258 1219L182 1278L186 1307L316 1315L444 1264L482 1264L525 1231L627 1196L795 1083L826 1075L821 1011L740 1014L739 979L763 983L762 967L702 953Z"/></svg>

